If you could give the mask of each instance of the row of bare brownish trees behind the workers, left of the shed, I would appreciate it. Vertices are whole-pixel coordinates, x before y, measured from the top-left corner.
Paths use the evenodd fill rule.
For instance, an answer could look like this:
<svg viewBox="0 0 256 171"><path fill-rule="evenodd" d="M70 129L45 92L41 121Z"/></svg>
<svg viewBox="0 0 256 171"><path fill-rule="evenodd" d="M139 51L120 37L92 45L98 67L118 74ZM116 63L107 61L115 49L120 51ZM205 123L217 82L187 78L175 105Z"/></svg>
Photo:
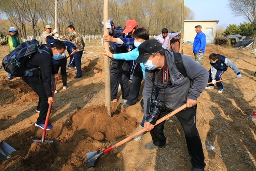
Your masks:
<svg viewBox="0 0 256 171"><path fill-rule="evenodd" d="M38 36L44 26L54 26L54 0L2 1L0 12L20 30L20 34ZM150 34L160 34L162 28L171 31L181 29L181 1L172 0L109 0L109 16L116 26L124 28L128 19L134 19ZM185 20L192 20L194 12L184 9ZM102 34L103 0L58 0L58 30L67 33L72 24L83 35ZM7 30L9 26L5 26ZM0 27L0 32L3 27ZM6 32L6 30L4 30Z"/></svg>

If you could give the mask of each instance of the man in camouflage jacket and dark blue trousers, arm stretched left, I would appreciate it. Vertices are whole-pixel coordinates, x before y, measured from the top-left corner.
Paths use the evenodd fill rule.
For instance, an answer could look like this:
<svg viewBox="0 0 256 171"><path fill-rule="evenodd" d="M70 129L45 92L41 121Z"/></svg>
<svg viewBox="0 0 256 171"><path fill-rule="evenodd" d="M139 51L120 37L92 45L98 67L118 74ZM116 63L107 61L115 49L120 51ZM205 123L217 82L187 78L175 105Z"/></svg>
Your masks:
<svg viewBox="0 0 256 171"><path fill-rule="evenodd" d="M68 36L61 36L63 40L69 40L76 46L76 52L74 53L74 60L76 65L76 76L74 78L80 78L83 76L81 67L81 58L84 51L84 40L80 34L75 31L75 27L72 25L68 26Z"/></svg>

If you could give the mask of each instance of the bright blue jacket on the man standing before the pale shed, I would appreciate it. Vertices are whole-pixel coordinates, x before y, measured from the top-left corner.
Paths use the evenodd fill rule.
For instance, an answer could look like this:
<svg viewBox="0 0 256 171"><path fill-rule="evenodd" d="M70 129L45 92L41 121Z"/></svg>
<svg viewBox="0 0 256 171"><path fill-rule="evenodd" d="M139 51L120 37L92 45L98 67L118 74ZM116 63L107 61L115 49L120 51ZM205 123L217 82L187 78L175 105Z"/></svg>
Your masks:
<svg viewBox="0 0 256 171"><path fill-rule="evenodd" d="M194 39L193 53L198 54L199 50L202 50L202 54L204 54L205 47L206 47L206 36L201 31L198 34L196 34L196 37Z"/></svg>

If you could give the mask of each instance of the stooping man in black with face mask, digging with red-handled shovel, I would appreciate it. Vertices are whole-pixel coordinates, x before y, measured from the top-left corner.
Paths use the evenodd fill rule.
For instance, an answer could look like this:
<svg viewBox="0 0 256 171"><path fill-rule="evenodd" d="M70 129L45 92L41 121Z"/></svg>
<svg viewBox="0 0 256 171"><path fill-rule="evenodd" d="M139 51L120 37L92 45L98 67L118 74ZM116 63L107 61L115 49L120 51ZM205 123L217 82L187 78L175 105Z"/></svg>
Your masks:
<svg viewBox="0 0 256 171"><path fill-rule="evenodd" d="M44 129L44 123L50 102L54 102L52 97L51 76L58 77L58 71L53 72L52 58L60 58L65 52L66 46L63 42L57 41L53 44L43 46L42 53L35 52L24 63L24 70L29 70L29 74L22 76L22 79L28 84L39 96L38 107L39 117L35 125ZM48 123L47 130L52 129Z"/></svg>

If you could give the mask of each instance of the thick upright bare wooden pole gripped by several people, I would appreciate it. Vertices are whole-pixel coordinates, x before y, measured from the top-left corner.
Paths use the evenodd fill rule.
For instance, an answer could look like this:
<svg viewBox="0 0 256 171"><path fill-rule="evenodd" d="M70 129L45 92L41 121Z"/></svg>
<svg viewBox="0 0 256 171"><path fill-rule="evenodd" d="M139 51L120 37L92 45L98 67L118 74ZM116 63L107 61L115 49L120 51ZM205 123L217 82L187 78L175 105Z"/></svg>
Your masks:
<svg viewBox="0 0 256 171"><path fill-rule="evenodd" d="M106 22L108 22L108 0L104 0L103 8L103 18L104 18L104 35L108 35L108 28L106 28ZM104 42L104 48L106 51L109 50L109 43ZM109 70L109 59L108 56L104 56L104 68L105 68L105 106L108 109L108 114L111 117L110 110L110 70Z"/></svg>

